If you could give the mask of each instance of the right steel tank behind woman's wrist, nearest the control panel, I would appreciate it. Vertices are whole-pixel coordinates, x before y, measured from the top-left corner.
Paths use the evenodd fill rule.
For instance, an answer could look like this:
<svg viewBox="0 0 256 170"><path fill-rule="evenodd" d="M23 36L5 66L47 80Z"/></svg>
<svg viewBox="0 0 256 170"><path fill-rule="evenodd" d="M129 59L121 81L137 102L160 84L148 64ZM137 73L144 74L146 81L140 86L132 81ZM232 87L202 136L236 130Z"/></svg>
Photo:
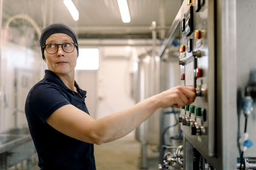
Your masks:
<svg viewBox="0 0 256 170"><path fill-rule="evenodd" d="M171 46L161 59L160 90L164 91L179 85L180 69L178 64L179 47ZM179 108L170 107L161 110L161 145L181 145Z"/></svg>

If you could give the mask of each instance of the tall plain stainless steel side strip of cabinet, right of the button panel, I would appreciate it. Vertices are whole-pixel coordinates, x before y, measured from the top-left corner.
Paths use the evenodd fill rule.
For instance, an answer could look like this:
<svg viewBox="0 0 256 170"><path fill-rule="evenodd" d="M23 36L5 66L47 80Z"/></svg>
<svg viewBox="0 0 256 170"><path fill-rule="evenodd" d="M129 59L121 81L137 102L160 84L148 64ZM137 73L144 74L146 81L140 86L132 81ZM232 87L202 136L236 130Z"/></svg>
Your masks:
<svg viewBox="0 0 256 170"><path fill-rule="evenodd" d="M217 1L217 90L218 117L221 117L222 169L236 169L237 156L237 32L236 0ZM232 48L230 48L232 47Z"/></svg>

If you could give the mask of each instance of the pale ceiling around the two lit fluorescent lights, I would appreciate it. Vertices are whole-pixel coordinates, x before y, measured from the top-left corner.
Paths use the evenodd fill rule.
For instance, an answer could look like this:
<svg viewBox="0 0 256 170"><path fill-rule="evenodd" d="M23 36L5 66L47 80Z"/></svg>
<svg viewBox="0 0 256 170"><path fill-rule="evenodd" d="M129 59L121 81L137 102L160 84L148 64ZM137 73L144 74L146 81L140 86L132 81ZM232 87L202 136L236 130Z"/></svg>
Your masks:
<svg viewBox="0 0 256 170"><path fill-rule="evenodd" d="M180 8L181 0L127 0L131 22L124 24L116 0L73 0L79 11L74 21L63 0L3 0L3 25L15 15L27 15L40 29L54 22L70 25L79 38L151 38L156 21L166 30ZM161 14L162 13L162 14ZM12 26L24 24L13 20Z"/></svg>

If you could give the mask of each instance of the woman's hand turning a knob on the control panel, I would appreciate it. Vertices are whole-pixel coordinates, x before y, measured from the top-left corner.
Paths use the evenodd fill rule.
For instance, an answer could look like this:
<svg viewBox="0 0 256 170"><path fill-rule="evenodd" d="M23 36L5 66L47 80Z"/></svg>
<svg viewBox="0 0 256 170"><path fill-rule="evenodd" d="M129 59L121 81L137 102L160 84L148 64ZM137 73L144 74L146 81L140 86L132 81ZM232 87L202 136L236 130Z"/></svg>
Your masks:
<svg viewBox="0 0 256 170"><path fill-rule="evenodd" d="M196 94L194 87L179 85L177 87L173 87L172 89L161 92L160 94L157 94L156 97L159 100L160 108L167 108L170 106L181 107L186 104L193 103Z"/></svg>

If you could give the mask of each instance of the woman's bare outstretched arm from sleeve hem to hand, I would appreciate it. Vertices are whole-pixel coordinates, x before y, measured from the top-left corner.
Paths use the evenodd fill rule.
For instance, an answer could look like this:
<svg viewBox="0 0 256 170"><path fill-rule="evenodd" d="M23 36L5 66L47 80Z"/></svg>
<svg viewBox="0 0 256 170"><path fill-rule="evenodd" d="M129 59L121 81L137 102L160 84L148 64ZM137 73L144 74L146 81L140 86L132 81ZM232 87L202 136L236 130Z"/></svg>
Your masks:
<svg viewBox="0 0 256 170"><path fill-rule="evenodd" d="M149 97L140 103L106 117L94 120L72 104L62 106L47 118L47 124L72 138L100 145L122 138L158 108L184 106L195 99L193 87L178 86Z"/></svg>

